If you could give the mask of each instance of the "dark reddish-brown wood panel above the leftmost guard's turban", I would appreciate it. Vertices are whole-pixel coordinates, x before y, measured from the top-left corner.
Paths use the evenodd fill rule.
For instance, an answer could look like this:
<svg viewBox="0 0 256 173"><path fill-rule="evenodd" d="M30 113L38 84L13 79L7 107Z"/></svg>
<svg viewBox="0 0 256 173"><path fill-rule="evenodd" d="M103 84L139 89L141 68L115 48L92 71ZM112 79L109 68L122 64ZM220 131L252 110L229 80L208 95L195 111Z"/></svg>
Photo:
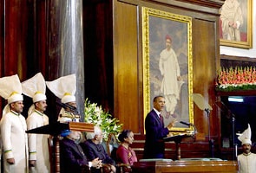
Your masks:
<svg viewBox="0 0 256 173"><path fill-rule="evenodd" d="M5 1L4 72L3 75L26 74L25 63L28 33L27 1Z"/></svg>

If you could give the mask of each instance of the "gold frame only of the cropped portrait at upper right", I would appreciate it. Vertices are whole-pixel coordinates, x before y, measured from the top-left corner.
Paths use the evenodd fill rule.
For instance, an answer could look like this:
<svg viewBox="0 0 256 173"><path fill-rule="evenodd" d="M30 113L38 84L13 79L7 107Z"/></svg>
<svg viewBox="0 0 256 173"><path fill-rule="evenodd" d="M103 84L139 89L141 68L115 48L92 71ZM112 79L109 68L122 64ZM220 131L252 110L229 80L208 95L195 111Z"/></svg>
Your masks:
<svg viewBox="0 0 256 173"><path fill-rule="evenodd" d="M229 46L229 47L236 47L236 48L253 48L253 33L252 33L252 16L253 16L253 2L252 0L247 1L247 41L246 42L238 42L238 41L229 41L220 37L220 45L221 46ZM244 3L244 1L240 1L240 3ZM221 10L221 9L220 9ZM245 10L242 8L241 10ZM245 21L244 21L245 22ZM220 20L220 32L221 29L221 20ZM220 35L221 36L221 35Z"/></svg>

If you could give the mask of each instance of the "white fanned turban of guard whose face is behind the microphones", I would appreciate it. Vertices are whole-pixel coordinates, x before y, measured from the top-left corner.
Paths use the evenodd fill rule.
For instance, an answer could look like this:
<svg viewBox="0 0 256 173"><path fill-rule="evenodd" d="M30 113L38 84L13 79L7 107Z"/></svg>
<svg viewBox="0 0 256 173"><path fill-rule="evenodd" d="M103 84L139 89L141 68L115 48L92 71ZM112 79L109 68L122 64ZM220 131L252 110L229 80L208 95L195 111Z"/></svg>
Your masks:
<svg viewBox="0 0 256 173"><path fill-rule="evenodd" d="M62 76L53 81L46 81L46 86L56 97L62 99L62 103L75 102L75 74Z"/></svg>

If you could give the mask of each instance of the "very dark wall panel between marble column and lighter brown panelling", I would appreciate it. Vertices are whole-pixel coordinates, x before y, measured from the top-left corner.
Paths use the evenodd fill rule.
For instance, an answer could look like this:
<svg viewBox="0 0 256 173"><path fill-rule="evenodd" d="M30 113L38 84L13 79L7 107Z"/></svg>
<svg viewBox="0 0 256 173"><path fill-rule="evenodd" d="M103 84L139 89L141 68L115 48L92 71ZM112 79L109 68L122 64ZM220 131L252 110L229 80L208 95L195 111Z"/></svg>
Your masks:
<svg viewBox="0 0 256 173"><path fill-rule="evenodd" d="M113 101L112 1L83 1L85 98L111 114Z"/></svg>

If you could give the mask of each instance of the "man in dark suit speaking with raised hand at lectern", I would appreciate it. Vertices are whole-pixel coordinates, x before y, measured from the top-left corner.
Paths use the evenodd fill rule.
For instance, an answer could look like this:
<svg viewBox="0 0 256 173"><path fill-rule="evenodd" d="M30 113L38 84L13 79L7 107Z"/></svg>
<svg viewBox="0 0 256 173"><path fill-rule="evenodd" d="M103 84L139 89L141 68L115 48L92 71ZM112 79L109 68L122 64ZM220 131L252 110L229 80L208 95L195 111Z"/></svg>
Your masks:
<svg viewBox="0 0 256 173"><path fill-rule="evenodd" d="M176 123L174 119L167 127L164 127L161 111L165 107L163 96L153 99L153 110L145 119L146 141L144 146L144 158L164 158L165 144L163 138L171 136L171 128Z"/></svg>

